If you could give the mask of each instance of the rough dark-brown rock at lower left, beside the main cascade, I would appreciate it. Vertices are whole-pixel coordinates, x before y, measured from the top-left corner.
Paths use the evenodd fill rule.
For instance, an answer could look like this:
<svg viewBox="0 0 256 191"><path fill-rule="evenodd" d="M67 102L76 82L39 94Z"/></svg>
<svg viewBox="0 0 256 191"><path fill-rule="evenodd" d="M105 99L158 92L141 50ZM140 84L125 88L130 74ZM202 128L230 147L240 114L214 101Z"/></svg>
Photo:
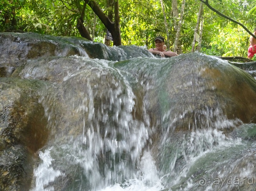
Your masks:
<svg viewBox="0 0 256 191"><path fill-rule="evenodd" d="M0 189L28 190L36 152L48 138L39 81L0 78Z"/></svg>

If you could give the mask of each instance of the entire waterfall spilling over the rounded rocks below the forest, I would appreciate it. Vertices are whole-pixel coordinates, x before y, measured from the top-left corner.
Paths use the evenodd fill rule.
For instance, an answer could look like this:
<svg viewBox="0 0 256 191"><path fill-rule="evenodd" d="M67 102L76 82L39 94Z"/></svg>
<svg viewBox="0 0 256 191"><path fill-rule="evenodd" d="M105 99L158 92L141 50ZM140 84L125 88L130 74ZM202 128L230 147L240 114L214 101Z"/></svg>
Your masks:
<svg viewBox="0 0 256 191"><path fill-rule="evenodd" d="M16 136L4 124L25 126L16 142L29 158L17 163L26 183L5 189L0 182L3 190L255 190L253 77L200 53L160 59L140 47L75 38L65 38L61 51L62 39L52 45L48 38L44 44L58 51L39 58L24 51L31 59L0 81L1 100L8 100L0 107L1 143ZM0 148L4 170L23 157ZM15 175L4 170L1 177Z"/></svg>

